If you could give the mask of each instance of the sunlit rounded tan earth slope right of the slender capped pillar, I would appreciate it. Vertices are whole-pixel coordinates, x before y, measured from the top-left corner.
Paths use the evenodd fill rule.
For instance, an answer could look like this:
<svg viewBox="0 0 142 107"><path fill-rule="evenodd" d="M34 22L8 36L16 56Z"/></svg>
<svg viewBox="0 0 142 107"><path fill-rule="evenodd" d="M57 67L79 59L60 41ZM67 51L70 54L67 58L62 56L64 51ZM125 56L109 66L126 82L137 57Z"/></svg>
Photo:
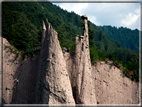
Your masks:
<svg viewBox="0 0 142 107"><path fill-rule="evenodd" d="M92 66L98 104L138 104L139 83L125 77L111 62Z"/></svg>

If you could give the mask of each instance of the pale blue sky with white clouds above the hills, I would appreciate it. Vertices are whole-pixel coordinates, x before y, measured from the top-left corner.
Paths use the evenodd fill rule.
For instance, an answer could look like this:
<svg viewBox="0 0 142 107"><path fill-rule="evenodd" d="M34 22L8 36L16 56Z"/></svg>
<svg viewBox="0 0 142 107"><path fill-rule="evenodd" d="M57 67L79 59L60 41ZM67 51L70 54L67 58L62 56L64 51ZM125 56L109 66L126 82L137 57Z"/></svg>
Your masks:
<svg viewBox="0 0 142 107"><path fill-rule="evenodd" d="M129 0L130 1L130 0ZM74 11L79 15L87 15L88 20L96 25L111 25L140 29L140 3L53 3Z"/></svg>

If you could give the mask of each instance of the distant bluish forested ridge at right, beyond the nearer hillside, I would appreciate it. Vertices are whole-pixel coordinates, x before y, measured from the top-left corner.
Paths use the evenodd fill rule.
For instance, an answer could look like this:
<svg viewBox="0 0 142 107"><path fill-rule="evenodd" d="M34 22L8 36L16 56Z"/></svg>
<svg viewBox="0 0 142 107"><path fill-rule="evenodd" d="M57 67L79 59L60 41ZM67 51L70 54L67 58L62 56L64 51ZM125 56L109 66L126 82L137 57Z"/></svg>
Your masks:
<svg viewBox="0 0 142 107"><path fill-rule="evenodd" d="M108 37L119 42L121 46L139 51L139 30L131 30L123 27L98 26Z"/></svg>

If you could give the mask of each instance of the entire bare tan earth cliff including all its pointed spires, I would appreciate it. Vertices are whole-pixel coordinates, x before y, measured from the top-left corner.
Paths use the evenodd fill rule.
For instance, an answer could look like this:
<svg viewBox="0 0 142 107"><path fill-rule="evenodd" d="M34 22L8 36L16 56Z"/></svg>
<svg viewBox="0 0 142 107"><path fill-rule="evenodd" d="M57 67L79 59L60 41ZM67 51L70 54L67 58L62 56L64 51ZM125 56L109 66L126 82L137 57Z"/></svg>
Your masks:
<svg viewBox="0 0 142 107"><path fill-rule="evenodd" d="M84 35L76 35L75 54L62 52L57 32L43 22L40 53L15 60L3 38L5 104L138 104L139 84L111 62L91 65L87 17Z"/></svg>

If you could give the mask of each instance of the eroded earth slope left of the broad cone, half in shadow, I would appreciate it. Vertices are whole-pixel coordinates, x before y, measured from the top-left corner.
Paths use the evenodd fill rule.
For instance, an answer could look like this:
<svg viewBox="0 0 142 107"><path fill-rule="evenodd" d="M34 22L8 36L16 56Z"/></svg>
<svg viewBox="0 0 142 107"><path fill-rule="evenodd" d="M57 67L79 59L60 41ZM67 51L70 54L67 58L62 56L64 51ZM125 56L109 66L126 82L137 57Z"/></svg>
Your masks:
<svg viewBox="0 0 142 107"><path fill-rule="evenodd" d="M3 103L29 104L34 102L35 84L37 77L36 67L38 55L22 59L21 55L15 59L13 47L3 38Z"/></svg>

